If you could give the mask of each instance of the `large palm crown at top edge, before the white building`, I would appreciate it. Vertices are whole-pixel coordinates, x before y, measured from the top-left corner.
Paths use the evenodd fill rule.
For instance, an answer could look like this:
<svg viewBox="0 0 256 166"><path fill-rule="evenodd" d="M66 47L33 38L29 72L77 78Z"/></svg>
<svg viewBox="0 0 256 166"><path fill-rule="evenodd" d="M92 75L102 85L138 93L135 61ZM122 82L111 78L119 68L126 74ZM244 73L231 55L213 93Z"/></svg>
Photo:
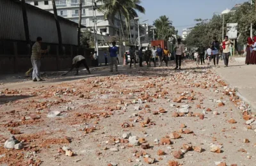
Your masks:
<svg viewBox="0 0 256 166"><path fill-rule="evenodd" d="M100 10L105 11L106 19L114 22L116 15L120 18L120 26L122 36L124 37L124 20L123 17L130 22L134 17L138 17L137 11L145 13L145 8L140 5L140 0L98 0L97 2L103 3Z"/></svg>

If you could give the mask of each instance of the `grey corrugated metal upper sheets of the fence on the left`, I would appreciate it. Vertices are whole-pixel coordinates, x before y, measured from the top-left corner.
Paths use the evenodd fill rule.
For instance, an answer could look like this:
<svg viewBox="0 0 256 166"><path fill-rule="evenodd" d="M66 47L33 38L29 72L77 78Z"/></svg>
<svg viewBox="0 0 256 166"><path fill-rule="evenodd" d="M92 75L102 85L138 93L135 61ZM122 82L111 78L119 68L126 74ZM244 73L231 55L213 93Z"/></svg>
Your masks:
<svg viewBox="0 0 256 166"><path fill-rule="evenodd" d="M46 43L58 43L54 15L27 5L29 33L31 41L41 36ZM10 0L0 1L0 40L26 40L20 3ZM77 45L77 25L60 19L63 44Z"/></svg>

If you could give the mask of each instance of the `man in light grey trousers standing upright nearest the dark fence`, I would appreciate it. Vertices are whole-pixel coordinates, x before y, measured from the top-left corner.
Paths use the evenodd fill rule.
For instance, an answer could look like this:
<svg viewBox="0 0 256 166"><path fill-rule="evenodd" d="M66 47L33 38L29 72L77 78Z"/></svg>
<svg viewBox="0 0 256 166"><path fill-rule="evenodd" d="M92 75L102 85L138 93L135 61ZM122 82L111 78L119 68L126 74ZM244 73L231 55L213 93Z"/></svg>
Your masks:
<svg viewBox="0 0 256 166"><path fill-rule="evenodd" d="M32 79L34 82L42 81L42 79L40 78L41 56L42 56L42 53L48 52L48 50L41 49L41 43L42 43L42 38L37 37L36 42L32 47L31 63L33 66Z"/></svg>

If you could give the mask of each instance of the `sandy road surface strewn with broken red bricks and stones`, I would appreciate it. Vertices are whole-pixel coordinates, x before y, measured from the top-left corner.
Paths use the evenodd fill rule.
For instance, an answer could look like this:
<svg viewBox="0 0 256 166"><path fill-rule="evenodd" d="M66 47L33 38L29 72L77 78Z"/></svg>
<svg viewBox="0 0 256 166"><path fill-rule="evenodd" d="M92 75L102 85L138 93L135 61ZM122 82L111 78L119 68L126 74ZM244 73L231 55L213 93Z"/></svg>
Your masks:
<svg viewBox="0 0 256 166"><path fill-rule="evenodd" d="M151 165L256 165L256 124L246 124L255 117L250 106L212 68L184 65L181 71L122 67L118 73L52 73L45 82L4 82L0 165L129 166L148 165L153 158ZM188 105L188 113L175 114ZM51 117L52 112L60 114ZM15 137L23 149L3 147L13 131L20 132ZM173 132L180 138L173 139ZM124 133L141 144L123 139ZM171 144L161 144L163 138ZM187 152L184 144L194 150ZM66 156L63 146L74 154Z"/></svg>

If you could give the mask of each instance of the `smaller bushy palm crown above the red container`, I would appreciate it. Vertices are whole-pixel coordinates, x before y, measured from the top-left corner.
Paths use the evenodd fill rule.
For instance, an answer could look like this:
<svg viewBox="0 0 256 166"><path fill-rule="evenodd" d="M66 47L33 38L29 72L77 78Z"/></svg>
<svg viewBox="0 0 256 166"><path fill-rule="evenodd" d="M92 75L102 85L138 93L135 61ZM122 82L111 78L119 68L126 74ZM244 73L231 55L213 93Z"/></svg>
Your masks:
<svg viewBox="0 0 256 166"><path fill-rule="evenodd" d="M156 19L153 25L156 27L158 39L168 40L170 36L175 34L175 27L172 26L172 21L166 15L162 15L159 19Z"/></svg>

